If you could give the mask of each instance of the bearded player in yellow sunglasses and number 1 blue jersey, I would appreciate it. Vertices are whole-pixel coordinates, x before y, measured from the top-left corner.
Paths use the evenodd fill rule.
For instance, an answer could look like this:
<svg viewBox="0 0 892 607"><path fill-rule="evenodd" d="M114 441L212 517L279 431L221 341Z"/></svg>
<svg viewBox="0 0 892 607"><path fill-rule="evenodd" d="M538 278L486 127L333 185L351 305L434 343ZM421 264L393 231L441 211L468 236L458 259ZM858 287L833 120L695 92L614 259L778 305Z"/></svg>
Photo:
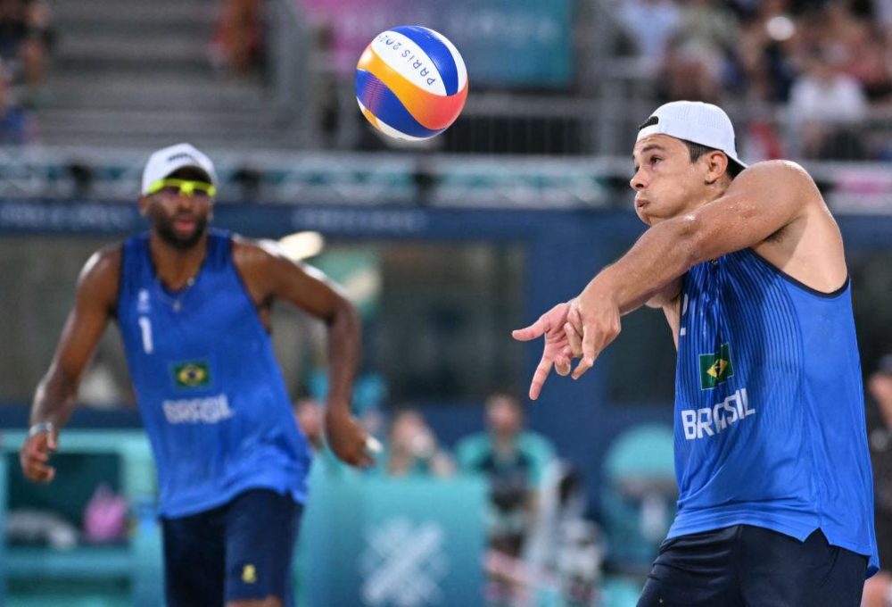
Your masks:
<svg viewBox="0 0 892 607"><path fill-rule="evenodd" d="M149 158L139 209L151 231L94 254L54 360L37 387L21 448L48 482L78 380L117 320L158 468L169 607L293 604L291 562L310 451L294 422L268 335L284 300L324 320L332 449L371 463L351 417L357 314L322 275L269 245L208 229L216 174L193 146Z"/></svg>

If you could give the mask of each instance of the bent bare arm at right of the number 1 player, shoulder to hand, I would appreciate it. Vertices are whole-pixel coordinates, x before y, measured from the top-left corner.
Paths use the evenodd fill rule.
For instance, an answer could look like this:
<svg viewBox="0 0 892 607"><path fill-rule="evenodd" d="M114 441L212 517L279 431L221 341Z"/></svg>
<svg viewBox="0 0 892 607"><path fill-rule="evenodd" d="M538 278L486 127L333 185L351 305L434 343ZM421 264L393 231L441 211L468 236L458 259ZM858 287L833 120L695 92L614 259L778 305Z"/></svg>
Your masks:
<svg viewBox="0 0 892 607"><path fill-rule="evenodd" d="M324 274L291 261L274 244L236 239L233 258L259 307L281 299L326 323L329 444L338 457L354 466L374 463L368 453L366 433L351 415L353 378L361 349L359 315L354 306Z"/></svg>

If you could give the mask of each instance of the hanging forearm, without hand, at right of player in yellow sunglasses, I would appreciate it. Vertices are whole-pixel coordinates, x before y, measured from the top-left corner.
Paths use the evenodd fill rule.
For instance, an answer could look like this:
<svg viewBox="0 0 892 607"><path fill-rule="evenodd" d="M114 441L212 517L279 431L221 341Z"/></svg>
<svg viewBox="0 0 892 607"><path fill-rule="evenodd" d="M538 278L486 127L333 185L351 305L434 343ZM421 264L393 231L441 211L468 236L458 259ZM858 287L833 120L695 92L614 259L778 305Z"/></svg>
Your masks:
<svg viewBox="0 0 892 607"><path fill-rule="evenodd" d="M328 323L328 406L350 412L362 334L359 314L346 300Z"/></svg>

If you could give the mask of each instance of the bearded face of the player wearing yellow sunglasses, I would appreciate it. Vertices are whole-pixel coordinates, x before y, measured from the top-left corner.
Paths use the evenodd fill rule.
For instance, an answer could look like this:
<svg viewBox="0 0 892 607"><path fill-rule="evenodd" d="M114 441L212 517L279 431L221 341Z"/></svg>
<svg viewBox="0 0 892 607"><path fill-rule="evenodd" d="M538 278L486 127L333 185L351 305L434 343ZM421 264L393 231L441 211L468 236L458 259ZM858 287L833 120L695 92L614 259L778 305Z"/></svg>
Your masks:
<svg viewBox="0 0 892 607"><path fill-rule="evenodd" d="M171 177L208 181L202 174L181 173ZM213 209L213 199L209 195L198 189L186 194L180 187L164 187L153 195L145 196L142 204L155 233L178 249L192 248L202 239Z"/></svg>

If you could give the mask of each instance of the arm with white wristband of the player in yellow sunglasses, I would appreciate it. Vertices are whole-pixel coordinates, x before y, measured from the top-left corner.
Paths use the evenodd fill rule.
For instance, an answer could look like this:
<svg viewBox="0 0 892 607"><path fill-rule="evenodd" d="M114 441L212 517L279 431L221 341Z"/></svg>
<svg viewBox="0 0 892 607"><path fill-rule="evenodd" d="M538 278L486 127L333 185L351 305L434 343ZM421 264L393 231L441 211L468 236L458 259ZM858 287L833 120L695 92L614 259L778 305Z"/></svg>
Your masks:
<svg viewBox="0 0 892 607"><path fill-rule="evenodd" d="M90 257L78 279L74 307L69 313L53 362L37 386L31 406L29 436L19 452L26 478L53 480L49 465L56 450L59 428L76 404L80 376L114 313L120 276L120 247Z"/></svg>

